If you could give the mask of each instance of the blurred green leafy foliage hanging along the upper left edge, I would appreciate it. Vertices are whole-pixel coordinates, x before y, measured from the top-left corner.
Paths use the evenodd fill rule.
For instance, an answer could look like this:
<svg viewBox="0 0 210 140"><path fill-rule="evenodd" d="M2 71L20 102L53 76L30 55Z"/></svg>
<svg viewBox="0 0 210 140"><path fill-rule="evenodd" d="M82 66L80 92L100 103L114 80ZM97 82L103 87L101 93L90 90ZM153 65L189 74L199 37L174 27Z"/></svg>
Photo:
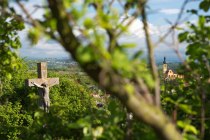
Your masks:
<svg viewBox="0 0 210 140"><path fill-rule="evenodd" d="M11 79L11 72L20 67L16 50L21 47L18 31L24 29L24 23L13 8L6 7L7 1L1 1L0 7L0 80Z"/></svg>

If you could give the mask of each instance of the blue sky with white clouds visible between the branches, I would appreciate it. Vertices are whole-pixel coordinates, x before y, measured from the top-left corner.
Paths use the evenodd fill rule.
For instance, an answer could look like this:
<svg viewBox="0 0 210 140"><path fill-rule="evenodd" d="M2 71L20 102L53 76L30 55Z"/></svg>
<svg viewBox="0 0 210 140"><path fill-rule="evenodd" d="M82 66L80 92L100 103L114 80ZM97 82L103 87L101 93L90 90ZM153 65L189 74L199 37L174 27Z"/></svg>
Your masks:
<svg viewBox="0 0 210 140"><path fill-rule="evenodd" d="M156 43L160 36L162 36L170 27L169 23L174 23L177 19L177 16L180 12L180 8L183 4L184 0L149 0L148 2L148 22L150 25L150 34L154 43ZM29 2L25 3L26 9L29 13L34 11L34 5L42 4L43 0L29 0ZM12 4L15 7L18 13L21 13L21 10L17 5ZM116 7L119 5L116 3ZM186 6L186 9L198 9L198 2L190 2ZM34 18L42 19L44 11L37 10L33 13ZM185 11L186 13L186 11ZM94 15L90 10L89 15ZM121 17L123 18L123 17ZM190 16L188 14L184 14L183 19L187 18L187 20L195 21L196 17ZM119 19L120 21L120 19ZM181 26L184 27L185 21L181 23ZM140 19L136 19L129 27L129 31L125 34L120 42L134 42L136 44L136 48L134 50L128 50L131 53L135 52L139 49L146 51L145 45L145 36L142 29L143 25ZM58 43L52 40L46 40L42 38L38 44L31 45L30 41L27 38L27 30L29 27L27 26L25 30L19 32L22 48L19 50L19 54L21 57L28 58L69 58L69 54L60 46ZM168 58L169 61L179 61L178 57L173 51L173 45L170 46L170 42L172 39L170 37L167 38L169 44L160 44L155 48L155 57L157 59L162 59L164 56ZM177 46L176 46L177 47ZM179 50L183 58L185 58L185 49L186 44L179 44Z"/></svg>

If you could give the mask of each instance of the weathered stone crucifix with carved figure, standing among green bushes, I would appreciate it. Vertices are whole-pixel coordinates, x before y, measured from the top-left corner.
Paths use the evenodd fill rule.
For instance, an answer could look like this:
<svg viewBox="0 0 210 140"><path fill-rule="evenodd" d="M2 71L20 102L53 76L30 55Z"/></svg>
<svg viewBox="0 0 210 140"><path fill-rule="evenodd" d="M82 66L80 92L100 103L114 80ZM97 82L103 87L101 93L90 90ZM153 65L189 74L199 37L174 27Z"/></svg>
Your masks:
<svg viewBox="0 0 210 140"><path fill-rule="evenodd" d="M59 78L47 78L47 63L37 63L37 79L27 79L26 86L35 86L38 88L38 94L40 96L39 106L44 108L45 112L49 112L50 98L49 88L59 84Z"/></svg>

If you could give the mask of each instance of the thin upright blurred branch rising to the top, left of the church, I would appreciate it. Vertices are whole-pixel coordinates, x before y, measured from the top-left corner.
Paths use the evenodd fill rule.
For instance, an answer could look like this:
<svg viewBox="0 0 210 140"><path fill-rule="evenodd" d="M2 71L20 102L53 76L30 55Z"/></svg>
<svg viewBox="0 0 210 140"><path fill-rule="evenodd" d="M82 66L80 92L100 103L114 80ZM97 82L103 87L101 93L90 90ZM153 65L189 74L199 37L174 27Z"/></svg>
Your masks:
<svg viewBox="0 0 210 140"><path fill-rule="evenodd" d="M142 22L144 26L144 32L146 37L147 49L148 49L148 59L151 68L152 76L155 82L155 104L160 107L160 79L158 76L158 70L154 58L154 46L149 35L149 27L147 23L147 14L145 10L146 2L144 0L139 1L138 7L142 14Z"/></svg>

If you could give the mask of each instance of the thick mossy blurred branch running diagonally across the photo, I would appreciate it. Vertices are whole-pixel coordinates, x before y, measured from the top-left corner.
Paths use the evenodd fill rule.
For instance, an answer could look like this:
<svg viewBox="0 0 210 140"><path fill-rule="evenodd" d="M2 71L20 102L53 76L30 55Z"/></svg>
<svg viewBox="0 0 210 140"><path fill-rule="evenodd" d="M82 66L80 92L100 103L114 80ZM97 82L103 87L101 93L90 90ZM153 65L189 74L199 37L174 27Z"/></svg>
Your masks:
<svg viewBox="0 0 210 140"><path fill-rule="evenodd" d="M48 0L48 2L53 17L57 19L57 30L62 39L62 45L69 53L72 54L73 58L78 61L76 51L80 42L72 33L72 27L69 25L62 1ZM139 120L142 120L152 126L163 139L182 139L173 123L168 117L166 117L159 107L155 107L154 105L147 103L142 96L138 96L139 93L136 93L135 90L133 93L128 93L125 86L128 84L126 81L129 80L114 72L111 66L107 66L107 71L102 71L102 68L99 67L97 62L92 62L91 64L83 64L82 68L98 82L100 81L99 75L101 72L104 72L103 75L106 79L104 79L104 82L101 83L101 86L110 91L113 95L117 96ZM132 86L133 89L135 89L134 85Z"/></svg>

